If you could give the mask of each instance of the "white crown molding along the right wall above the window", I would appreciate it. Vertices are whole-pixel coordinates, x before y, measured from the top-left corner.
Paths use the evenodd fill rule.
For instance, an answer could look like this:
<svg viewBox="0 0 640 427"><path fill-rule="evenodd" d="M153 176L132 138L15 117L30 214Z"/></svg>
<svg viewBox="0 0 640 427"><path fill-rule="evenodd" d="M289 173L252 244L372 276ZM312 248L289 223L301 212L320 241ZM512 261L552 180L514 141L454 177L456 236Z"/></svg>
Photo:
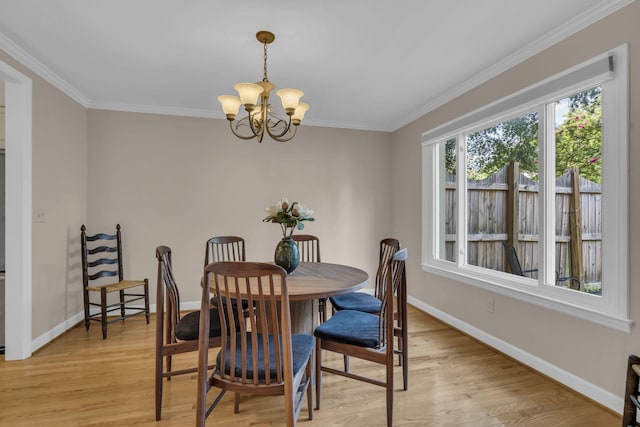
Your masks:
<svg viewBox="0 0 640 427"><path fill-rule="evenodd" d="M477 86L491 80L492 78L502 74L503 72L515 67L521 62L537 55L545 49L561 42L567 37L577 33L580 30L588 27L589 25L599 21L600 19L622 9L623 7L633 3L636 0L602 0L599 4L592 7L589 10L577 15L572 20L566 22L563 26L556 28L554 31L549 32L543 37L529 43L528 45L518 49L512 55L504 58L501 61L496 62L491 67L484 71L477 73L472 78L456 85L455 88L443 92L442 94L433 98L428 104L425 104L422 108L415 110L412 114L405 116L403 119L392 126L392 130L398 130L401 127L413 122L416 119L430 113L436 108L441 107L449 101L457 98L460 95L467 93Z"/></svg>

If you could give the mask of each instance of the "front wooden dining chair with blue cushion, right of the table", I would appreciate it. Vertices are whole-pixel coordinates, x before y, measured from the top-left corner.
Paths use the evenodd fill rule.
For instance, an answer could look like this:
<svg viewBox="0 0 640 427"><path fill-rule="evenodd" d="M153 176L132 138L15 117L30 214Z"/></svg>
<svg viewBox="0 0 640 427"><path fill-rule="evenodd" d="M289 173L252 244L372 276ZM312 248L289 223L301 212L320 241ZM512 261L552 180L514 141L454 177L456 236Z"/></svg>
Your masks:
<svg viewBox="0 0 640 427"><path fill-rule="evenodd" d="M397 251L387 262L380 281L382 304L379 314L340 310L318 326L316 337L316 409L320 409L322 372L364 381L386 388L387 426L393 425L394 316L393 299L401 286L407 250ZM385 380L345 372L322 364L323 351L385 365ZM371 403L371 402L369 402Z"/></svg>

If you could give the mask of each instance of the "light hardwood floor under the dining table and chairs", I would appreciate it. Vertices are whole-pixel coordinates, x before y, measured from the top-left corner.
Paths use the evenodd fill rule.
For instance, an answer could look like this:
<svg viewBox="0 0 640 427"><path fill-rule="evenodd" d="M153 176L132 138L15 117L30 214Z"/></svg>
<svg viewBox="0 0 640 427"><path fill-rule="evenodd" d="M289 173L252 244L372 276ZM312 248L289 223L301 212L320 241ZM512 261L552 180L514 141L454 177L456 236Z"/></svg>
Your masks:
<svg viewBox="0 0 640 427"><path fill-rule="evenodd" d="M154 328L137 316L85 332L78 325L24 361L0 356L0 426L191 426L195 375L165 384L162 420L154 417ZM395 377L395 426L618 427L619 415L549 380L415 308L409 311L409 390ZM214 350L215 351L215 350ZM196 364L185 355L176 367ZM337 367L342 358L326 356ZM352 360L353 370L379 374ZM623 387L623 384L621 384ZM209 393L210 400L215 393ZM233 414L228 394L212 426L283 425L281 397L243 396ZM385 393L374 385L326 374L322 408L298 426L384 426Z"/></svg>

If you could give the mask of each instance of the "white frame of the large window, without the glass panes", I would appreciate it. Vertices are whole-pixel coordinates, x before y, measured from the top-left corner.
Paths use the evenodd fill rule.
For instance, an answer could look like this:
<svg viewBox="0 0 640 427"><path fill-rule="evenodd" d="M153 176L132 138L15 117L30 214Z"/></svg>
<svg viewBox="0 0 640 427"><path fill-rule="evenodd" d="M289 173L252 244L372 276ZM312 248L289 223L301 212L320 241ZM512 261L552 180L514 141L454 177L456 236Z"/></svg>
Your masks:
<svg viewBox="0 0 640 427"><path fill-rule="evenodd" d="M557 310L613 329L630 332L629 319L629 47L619 46L589 61L493 102L479 110L422 134L422 269L489 291ZM604 68L603 68L604 67ZM613 70L611 71L611 68ZM555 241L554 170L555 134L545 131L554 117L557 100L581 90L602 87L602 296L552 286ZM538 112L540 166L541 274L520 277L466 264L465 135L518 115ZM553 123L553 121L552 121ZM441 227L439 207L441 164L437 147L457 139L458 229L456 261L438 256ZM547 142L549 141L549 142ZM444 231L442 231L444 232Z"/></svg>

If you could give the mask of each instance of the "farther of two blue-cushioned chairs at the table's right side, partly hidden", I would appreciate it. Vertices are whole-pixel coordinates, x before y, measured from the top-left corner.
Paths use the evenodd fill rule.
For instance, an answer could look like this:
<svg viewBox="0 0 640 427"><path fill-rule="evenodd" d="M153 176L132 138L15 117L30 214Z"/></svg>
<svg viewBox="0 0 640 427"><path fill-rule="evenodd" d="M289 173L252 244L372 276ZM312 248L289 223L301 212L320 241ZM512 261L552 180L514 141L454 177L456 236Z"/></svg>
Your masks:
<svg viewBox="0 0 640 427"><path fill-rule="evenodd" d="M331 297L333 311L357 310L365 313L379 314L382 300L384 298L384 280L386 278L389 260L400 249L398 239L382 239L380 241L380 256L378 260L378 271L376 272L376 282L374 294L365 292L352 292L350 294ZM395 327L394 336L398 345L395 353L398 354L399 364L402 366L403 389L407 390L409 381L409 352L408 352L408 328L407 328L407 279L403 270L401 283L396 294L396 308L394 310ZM344 357L344 370L349 371L349 358Z"/></svg>

